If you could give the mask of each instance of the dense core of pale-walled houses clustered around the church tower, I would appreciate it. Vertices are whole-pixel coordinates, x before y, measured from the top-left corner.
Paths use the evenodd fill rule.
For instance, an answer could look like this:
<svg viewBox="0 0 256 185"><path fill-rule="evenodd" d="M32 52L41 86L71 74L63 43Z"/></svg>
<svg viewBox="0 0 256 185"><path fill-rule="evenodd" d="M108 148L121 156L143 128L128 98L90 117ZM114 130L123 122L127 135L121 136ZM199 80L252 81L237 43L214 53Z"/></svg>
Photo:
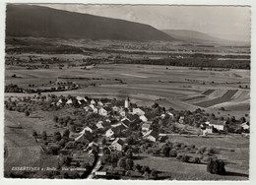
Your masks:
<svg viewBox="0 0 256 185"><path fill-rule="evenodd" d="M152 130L150 117L146 115L142 108L132 108L128 97L124 101L124 106L112 106L109 102L102 103L100 100L96 101L95 99L89 101L87 98L80 96L76 97L76 99L79 104L88 102L85 103L85 111L91 111L105 117L103 120L101 119L83 128L79 133L72 133L77 143L92 143L94 141L94 131L102 129L105 131L104 136L109 142L109 149L112 151L122 151L125 145L124 140L127 137L124 133L135 125L139 126L138 129L141 130L143 139L152 142L156 142L159 139L159 133ZM62 102L61 99L58 101L58 103ZM69 104L72 102L72 99L68 99L65 103Z"/></svg>

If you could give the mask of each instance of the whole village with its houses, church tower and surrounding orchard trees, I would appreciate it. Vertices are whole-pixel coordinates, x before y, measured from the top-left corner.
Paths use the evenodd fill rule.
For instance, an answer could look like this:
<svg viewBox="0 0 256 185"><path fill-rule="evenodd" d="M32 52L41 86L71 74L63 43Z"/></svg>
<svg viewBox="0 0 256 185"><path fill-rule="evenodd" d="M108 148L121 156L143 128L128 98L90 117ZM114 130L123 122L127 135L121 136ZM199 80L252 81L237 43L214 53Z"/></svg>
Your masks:
<svg viewBox="0 0 256 185"><path fill-rule="evenodd" d="M45 154L58 155L54 178L158 179L160 170L140 165L136 159L144 154L189 163L207 164L209 158L217 159L214 148L172 143L172 137L204 140L221 135L248 137L249 133L249 121L244 117L217 117L200 108L194 112L165 109L158 103L139 107L129 97L117 100L37 93L11 96L5 106L10 111L25 112L27 117L38 110L66 112L64 117L53 113L52 121L59 132L32 131ZM46 177L53 174L51 171Z"/></svg>

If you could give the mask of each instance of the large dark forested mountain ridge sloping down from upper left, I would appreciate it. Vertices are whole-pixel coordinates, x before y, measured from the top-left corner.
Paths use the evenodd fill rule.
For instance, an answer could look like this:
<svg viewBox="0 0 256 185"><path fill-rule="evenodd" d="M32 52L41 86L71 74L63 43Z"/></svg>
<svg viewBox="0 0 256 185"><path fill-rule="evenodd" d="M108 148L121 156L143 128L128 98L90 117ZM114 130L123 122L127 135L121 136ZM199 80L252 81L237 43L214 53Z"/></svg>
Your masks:
<svg viewBox="0 0 256 185"><path fill-rule="evenodd" d="M32 5L7 5L7 36L174 40L149 25Z"/></svg>

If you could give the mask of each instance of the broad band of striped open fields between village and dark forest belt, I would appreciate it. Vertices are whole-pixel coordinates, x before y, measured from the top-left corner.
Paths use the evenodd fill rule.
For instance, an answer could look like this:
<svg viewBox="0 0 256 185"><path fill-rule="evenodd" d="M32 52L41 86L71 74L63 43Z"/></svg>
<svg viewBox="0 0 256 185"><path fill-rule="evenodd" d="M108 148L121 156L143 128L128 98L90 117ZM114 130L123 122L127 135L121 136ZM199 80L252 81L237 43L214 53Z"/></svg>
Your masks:
<svg viewBox="0 0 256 185"><path fill-rule="evenodd" d="M233 108L230 111L240 111L239 115L242 115L248 111L249 103L247 101L244 107L239 107L239 103L249 99L249 90L241 90L238 86L249 87L249 73L246 70L235 69L209 73L186 67L168 66L166 69L165 66L129 64L99 64L86 71L80 68L67 68L62 69L61 73L56 68L31 70L29 74L28 70L7 68L5 84L17 84L24 89L33 84L33 89L39 89L49 86L49 81L72 82L81 88L61 93L115 97L129 95L134 102L140 103L154 100L161 103L162 99L165 99L164 105L177 109L203 107L218 110L215 108L216 105L232 102ZM21 78L12 78L14 74ZM233 74L237 74L238 77ZM91 86L92 84L95 86ZM236 110L235 104L238 107Z"/></svg>

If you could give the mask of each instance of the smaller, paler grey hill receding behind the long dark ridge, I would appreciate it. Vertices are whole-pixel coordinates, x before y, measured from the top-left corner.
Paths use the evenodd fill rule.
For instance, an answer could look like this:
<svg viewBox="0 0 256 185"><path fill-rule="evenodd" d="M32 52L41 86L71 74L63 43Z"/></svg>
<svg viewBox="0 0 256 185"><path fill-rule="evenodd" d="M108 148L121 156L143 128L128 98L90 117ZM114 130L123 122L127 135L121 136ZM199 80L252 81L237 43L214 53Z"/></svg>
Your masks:
<svg viewBox="0 0 256 185"><path fill-rule="evenodd" d="M173 38L190 42L223 42L221 38L211 36L200 31L190 30L163 30Z"/></svg>

